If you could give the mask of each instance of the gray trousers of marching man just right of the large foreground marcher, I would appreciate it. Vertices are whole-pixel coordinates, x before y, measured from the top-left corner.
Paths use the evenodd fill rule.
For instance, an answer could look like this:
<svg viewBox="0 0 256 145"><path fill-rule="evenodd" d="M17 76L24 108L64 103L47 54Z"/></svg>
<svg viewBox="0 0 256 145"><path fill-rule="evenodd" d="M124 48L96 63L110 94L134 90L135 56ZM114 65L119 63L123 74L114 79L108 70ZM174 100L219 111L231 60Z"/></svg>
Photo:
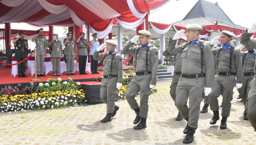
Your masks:
<svg viewBox="0 0 256 145"><path fill-rule="evenodd" d="M233 99L233 89L235 83L235 75L230 76L215 76L215 87L209 94L209 103L212 111L219 110L218 97L222 95L223 107L221 115L224 117L229 117L231 109L231 101Z"/></svg>

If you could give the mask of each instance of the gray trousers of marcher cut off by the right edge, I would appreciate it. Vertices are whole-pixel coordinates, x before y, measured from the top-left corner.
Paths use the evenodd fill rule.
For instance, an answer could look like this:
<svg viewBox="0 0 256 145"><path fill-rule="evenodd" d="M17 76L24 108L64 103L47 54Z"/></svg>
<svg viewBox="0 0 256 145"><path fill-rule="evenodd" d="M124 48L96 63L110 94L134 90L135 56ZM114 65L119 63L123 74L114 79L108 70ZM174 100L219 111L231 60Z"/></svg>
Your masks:
<svg viewBox="0 0 256 145"><path fill-rule="evenodd" d="M252 124L252 127L254 128L254 131L256 132L256 77L253 78L253 80L250 83L251 90L248 94L248 101L246 104L247 109L247 117L249 121Z"/></svg>

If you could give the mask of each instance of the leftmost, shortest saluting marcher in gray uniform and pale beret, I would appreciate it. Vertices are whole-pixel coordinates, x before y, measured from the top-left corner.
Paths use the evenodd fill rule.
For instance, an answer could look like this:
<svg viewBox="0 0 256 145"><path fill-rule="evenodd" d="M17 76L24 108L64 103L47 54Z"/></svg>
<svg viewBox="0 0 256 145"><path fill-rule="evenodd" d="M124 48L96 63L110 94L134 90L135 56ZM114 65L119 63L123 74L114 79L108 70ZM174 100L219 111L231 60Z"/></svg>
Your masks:
<svg viewBox="0 0 256 145"><path fill-rule="evenodd" d="M101 100L107 105L107 114L101 122L112 121L112 117L116 115L119 109L115 105L117 97L117 88L122 86L123 80L123 59L120 54L115 52L118 43L115 40L106 40L106 43L101 44L97 51L93 54L93 59L103 60L103 80L101 85ZM100 53L106 46L107 52Z"/></svg>

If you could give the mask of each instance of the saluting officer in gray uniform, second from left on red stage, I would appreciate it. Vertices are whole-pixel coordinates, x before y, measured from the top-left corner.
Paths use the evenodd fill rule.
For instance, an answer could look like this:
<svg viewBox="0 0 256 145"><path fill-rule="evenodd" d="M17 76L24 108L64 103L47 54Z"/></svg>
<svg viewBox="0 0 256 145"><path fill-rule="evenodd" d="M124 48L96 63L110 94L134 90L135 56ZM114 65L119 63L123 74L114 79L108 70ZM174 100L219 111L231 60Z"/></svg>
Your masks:
<svg viewBox="0 0 256 145"><path fill-rule="evenodd" d="M46 77L44 75L44 62L45 62L45 56L47 56L47 42L46 42L46 37L44 35L44 30L43 28L40 28L37 30L37 35L35 35L32 38L32 42L35 41L35 48L37 48L37 77Z"/></svg>

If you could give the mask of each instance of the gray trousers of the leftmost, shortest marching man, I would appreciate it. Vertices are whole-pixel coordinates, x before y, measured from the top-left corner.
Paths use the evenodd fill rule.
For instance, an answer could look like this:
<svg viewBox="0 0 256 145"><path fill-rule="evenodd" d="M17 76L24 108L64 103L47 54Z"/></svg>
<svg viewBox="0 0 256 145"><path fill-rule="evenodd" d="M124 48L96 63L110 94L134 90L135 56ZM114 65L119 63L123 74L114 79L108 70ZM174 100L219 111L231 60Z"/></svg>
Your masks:
<svg viewBox="0 0 256 145"><path fill-rule="evenodd" d="M107 113L113 113L117 97L117 83L118 78L103 78L101 85L101 100L107 105Z"/></svg>

